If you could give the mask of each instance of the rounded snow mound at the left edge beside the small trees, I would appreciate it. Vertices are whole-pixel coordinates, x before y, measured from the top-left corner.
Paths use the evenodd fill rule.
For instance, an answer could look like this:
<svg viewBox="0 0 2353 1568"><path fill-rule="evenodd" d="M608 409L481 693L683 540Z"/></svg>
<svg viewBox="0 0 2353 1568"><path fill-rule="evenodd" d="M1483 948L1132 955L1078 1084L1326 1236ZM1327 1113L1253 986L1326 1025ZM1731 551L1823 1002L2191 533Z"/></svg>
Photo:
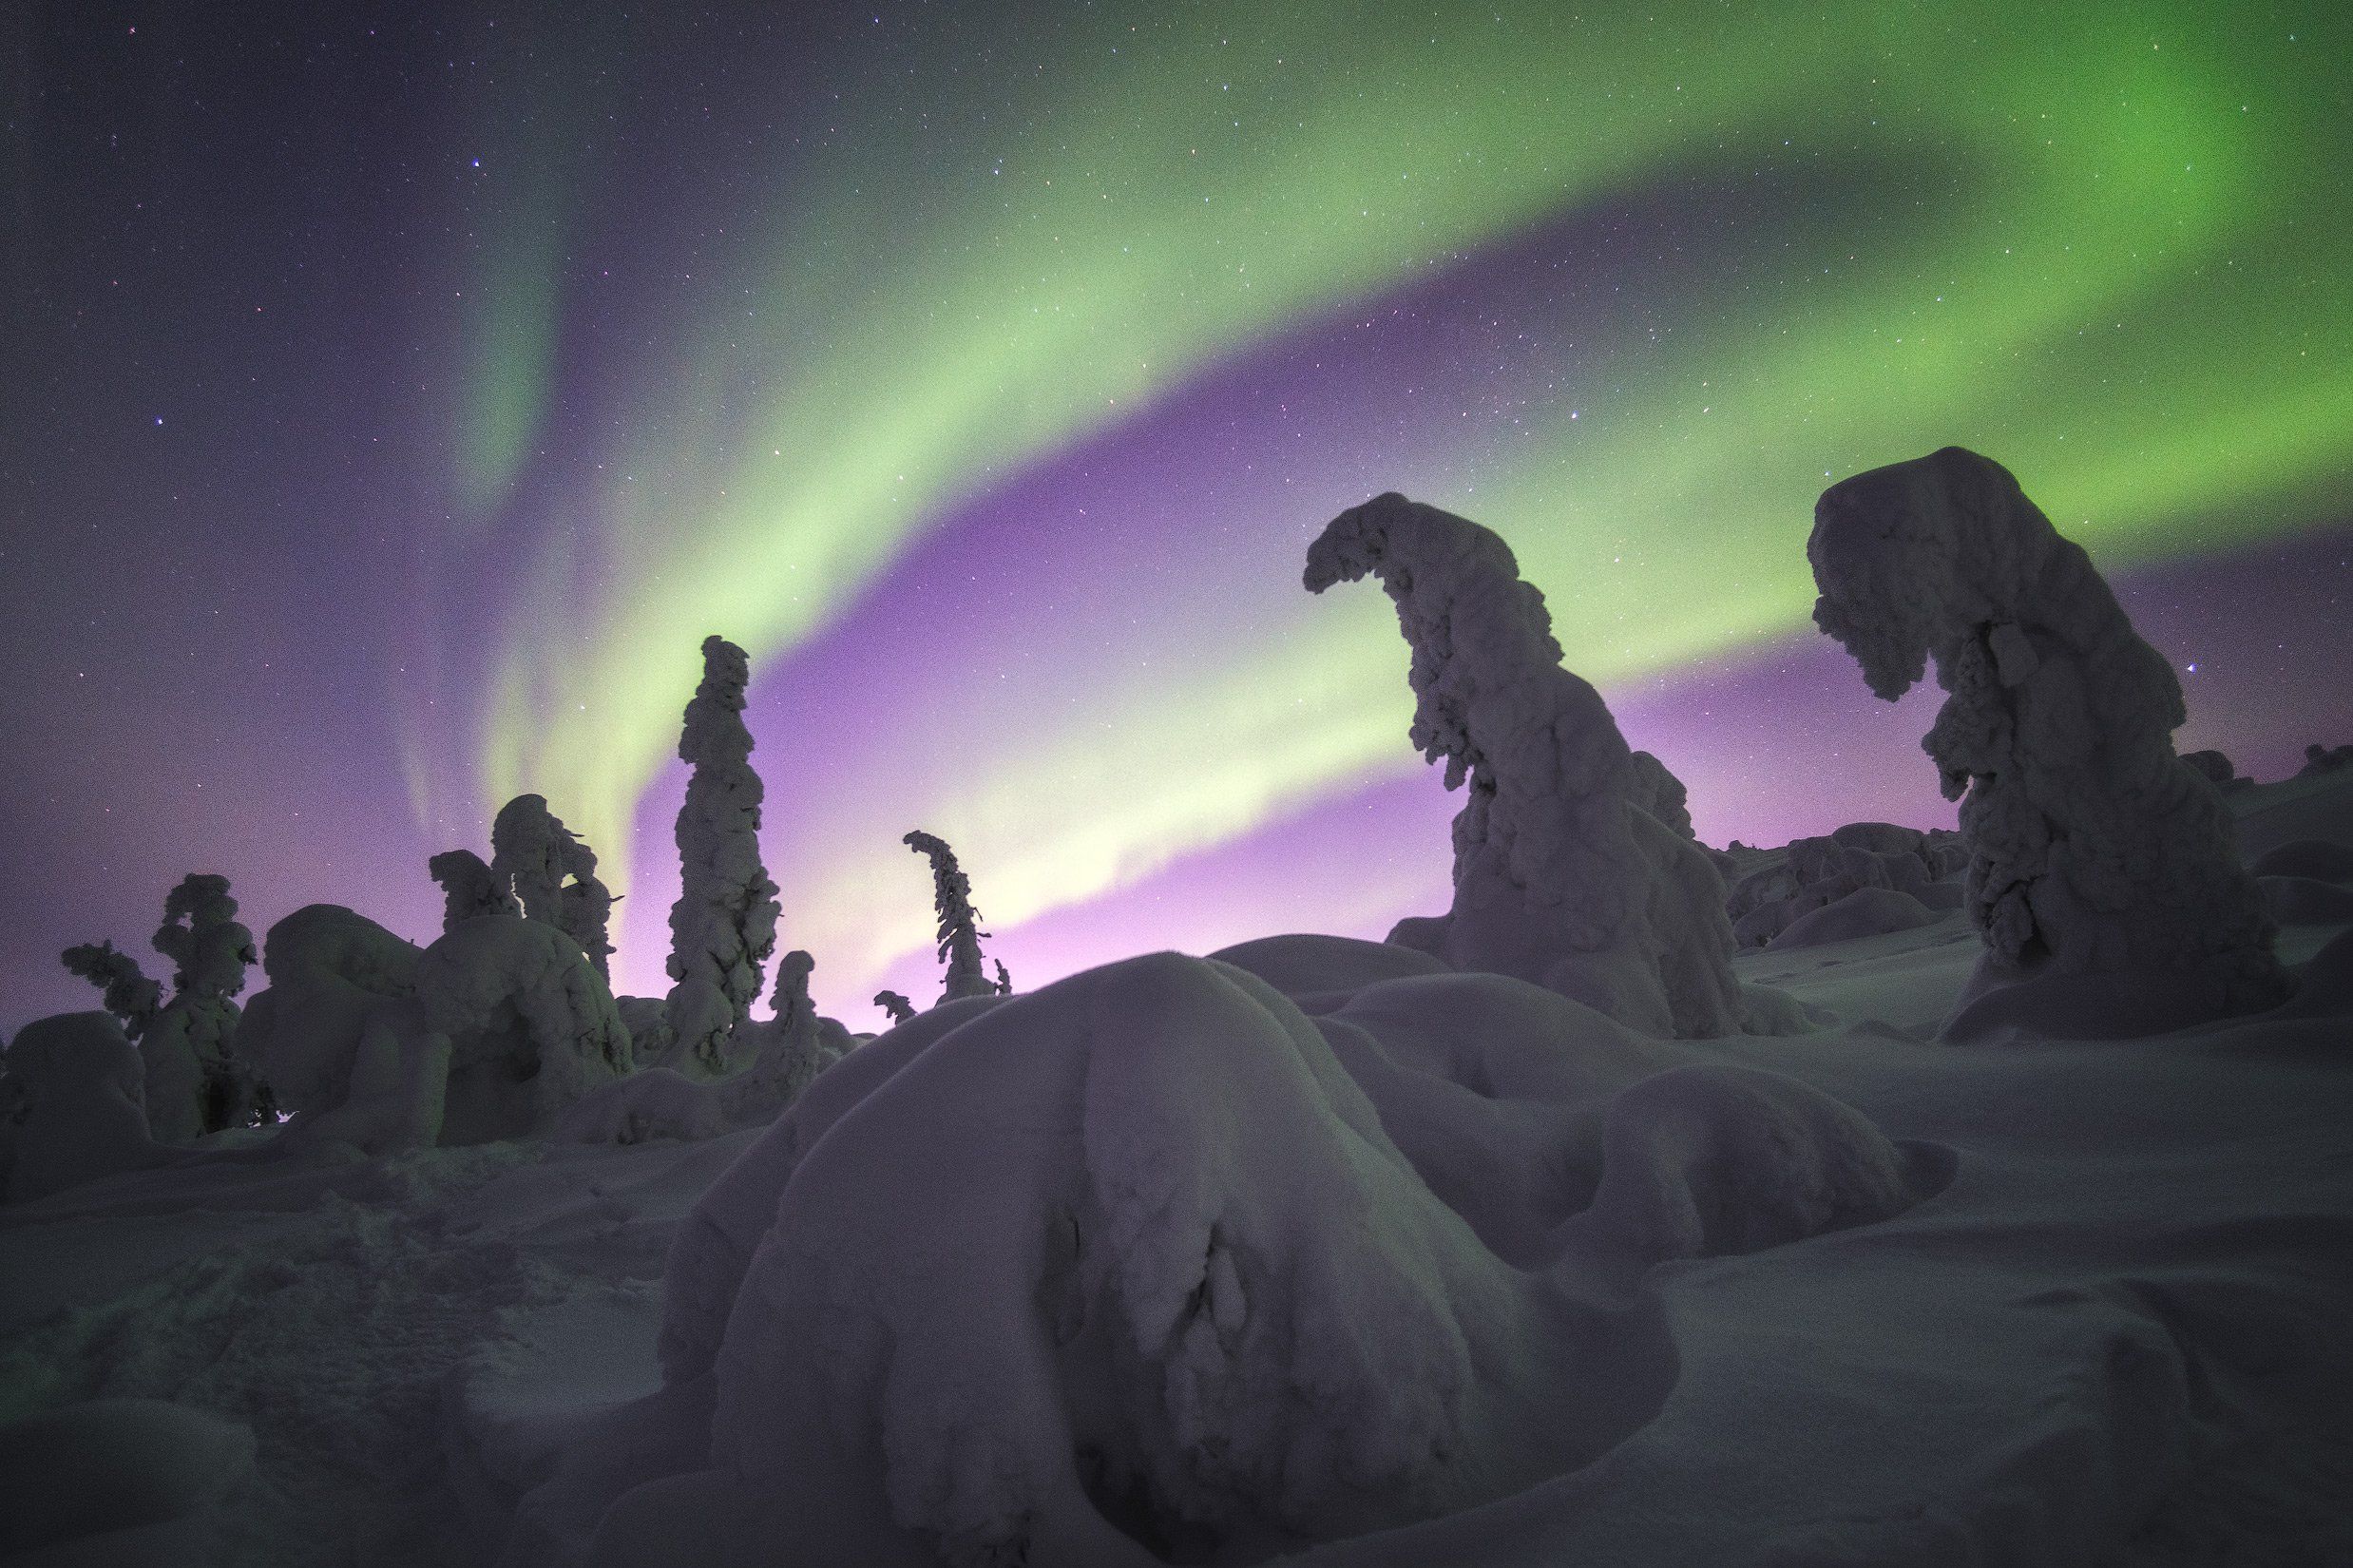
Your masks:
<svg viewBox="0 0 2353 1568"><path fill-rule="evenodd" d="M12 1203L169 1156L148 1140L139 1048L106 1012L59 1012L0 1057L0 1196Z"/></svg>

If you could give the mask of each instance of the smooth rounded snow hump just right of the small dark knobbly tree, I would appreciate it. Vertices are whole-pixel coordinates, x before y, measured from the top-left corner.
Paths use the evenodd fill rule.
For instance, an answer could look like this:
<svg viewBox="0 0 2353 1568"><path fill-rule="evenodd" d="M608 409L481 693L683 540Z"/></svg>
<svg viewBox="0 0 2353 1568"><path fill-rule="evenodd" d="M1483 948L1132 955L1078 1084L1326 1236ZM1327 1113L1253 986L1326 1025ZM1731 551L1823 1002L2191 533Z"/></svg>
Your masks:
<svg viewBox="0 0 2353 1568"><path fill-rule="evenodd" d="M261 944L268 989L238 1019L235 1052L280 1111L318 1111L351 1095L360 1034L386 1001L416 991L424 954L341 904L306 904Z"/></svg>

